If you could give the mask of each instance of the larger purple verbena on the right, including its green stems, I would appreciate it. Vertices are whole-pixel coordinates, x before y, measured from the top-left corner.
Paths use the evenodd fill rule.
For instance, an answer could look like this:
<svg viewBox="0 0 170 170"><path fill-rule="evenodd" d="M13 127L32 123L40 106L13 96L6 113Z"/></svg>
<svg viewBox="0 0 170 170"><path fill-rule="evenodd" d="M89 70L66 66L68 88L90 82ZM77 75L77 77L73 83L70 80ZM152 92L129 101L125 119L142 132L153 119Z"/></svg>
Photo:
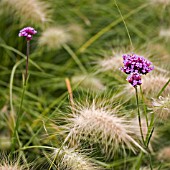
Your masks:
<svg viewBox="0 0 170 170"><path fill-rule="evenodd" d="M140 133L141 133L143 145L145 146L146 149L148 149L149 141L151 139L151 136L154 130L154 114L152 117L152 121L149 123L147 113L146 113L146 108L144 108L146 123L147 123L147 126L149 127L147 135L146 137L144 137L143 131L142 131L142 124L141 124L141 115L140 115L140 110L139 110L139 99L138 99L137 86L140 86L140 90L142 93L142 88L141 88L142 78L141 77L142 75L146 75L147 73L152 71L154 67L152 66L152 63L148 61L147 59L145 59L143 56L139 56L133 53L123 55L123 64L124 64L124 67L121 67L120 70L122 70L124 73L129 75L126 80L135 88ZM142 98L143 98L143 93L142 93ZM140 159L142 159L142 156L140 157ZM150 159L150 166L152 169L151 159ZM139 168L139 165L137 165L137 167ZM135 167L135 169L137 167Z"/></svg>

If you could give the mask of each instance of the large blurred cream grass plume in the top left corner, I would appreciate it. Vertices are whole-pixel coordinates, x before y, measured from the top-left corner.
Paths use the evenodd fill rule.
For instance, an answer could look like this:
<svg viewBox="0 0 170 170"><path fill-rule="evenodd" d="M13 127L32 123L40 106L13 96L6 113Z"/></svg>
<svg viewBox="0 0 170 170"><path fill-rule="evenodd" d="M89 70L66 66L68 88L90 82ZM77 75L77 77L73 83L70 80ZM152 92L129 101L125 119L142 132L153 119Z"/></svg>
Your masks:
<svg viewBox="0 0 170 170"><path fill-rule="evenodd" d="M51 18L49 4L42 0L2 0L1 5L4 10L13 12L23 25L43 26Z"/></svg>

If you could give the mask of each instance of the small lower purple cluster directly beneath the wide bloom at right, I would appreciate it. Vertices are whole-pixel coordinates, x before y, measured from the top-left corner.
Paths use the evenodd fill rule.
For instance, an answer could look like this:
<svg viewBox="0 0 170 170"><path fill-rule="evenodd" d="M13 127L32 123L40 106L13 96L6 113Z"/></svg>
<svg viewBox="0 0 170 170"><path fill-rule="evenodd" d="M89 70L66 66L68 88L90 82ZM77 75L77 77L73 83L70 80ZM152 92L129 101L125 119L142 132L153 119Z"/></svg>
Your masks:
<svg viewBox="0 0 170 170"><path fill-rule="evenodd" d="M141 85L141 75L139 73L131 73L126 79L133 87Z"/></svg>

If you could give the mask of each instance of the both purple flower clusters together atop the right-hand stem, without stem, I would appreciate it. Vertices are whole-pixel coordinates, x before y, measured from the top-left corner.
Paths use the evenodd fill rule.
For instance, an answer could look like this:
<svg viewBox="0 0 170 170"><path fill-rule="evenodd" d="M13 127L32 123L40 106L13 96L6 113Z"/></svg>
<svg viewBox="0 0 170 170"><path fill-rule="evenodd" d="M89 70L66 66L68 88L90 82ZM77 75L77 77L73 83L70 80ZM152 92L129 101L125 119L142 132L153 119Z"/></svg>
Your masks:
<svg viewBox="0 0 170 170"><path fill-rule="evenodd" d="M124 54L122 57L124 67L121 67L120 70L126 74L130 74L126 80L133 87L142 84L142 74L147 74L154 69L150 61L137 54Z"/></svg>

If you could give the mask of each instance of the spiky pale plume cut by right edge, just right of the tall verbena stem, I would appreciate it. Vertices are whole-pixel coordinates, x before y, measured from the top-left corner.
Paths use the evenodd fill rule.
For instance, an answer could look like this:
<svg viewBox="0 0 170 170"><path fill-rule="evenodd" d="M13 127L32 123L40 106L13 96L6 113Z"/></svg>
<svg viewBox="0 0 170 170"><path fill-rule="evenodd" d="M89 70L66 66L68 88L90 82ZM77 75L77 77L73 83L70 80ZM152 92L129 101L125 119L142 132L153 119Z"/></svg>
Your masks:
<svg viewBox="0 0 170 170"><path fill-rule="evenodd" d="M166 120L170 117L170 95L160 96L159 99L153 99L153 110L159 118Z"/></svg>

